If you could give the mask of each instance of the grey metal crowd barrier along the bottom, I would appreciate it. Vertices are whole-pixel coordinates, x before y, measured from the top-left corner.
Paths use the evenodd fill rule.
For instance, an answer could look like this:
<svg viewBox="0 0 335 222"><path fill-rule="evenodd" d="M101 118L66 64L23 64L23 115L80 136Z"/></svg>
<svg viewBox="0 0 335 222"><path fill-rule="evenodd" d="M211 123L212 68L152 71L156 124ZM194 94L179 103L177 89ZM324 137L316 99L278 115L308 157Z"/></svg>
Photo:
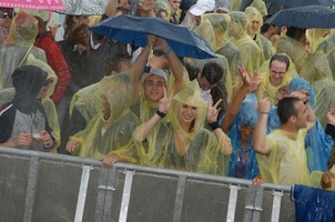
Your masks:
<svg viewBox="0 0 335 222"><path fill-rule="evenodd" d="M2 222L294 221L291 188L0 148Z"/></svg>

